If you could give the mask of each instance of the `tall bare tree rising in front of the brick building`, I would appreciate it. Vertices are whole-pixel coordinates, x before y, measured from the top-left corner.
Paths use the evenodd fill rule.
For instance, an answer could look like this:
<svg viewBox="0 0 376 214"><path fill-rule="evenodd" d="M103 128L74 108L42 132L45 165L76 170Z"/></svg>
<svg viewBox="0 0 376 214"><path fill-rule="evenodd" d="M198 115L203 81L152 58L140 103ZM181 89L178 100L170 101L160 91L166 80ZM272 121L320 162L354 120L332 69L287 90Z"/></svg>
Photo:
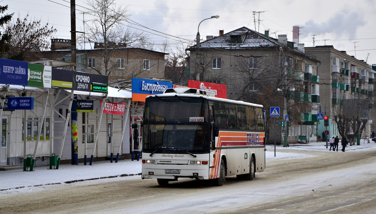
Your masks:
<svg viewBox="0 0 376 214"><path fill-rule="evenodd" d="M104 50L103 60L98 60L96 65L99 66L93 69L102 75L112 75L112 72L118 70L118 61L113 58L118 48L146 47L149 45L148 37L127 27L129 10L116 6L115 0L88 0L87 5L91 9L88 13L93 18L86 25L85 37Z"/></svg>

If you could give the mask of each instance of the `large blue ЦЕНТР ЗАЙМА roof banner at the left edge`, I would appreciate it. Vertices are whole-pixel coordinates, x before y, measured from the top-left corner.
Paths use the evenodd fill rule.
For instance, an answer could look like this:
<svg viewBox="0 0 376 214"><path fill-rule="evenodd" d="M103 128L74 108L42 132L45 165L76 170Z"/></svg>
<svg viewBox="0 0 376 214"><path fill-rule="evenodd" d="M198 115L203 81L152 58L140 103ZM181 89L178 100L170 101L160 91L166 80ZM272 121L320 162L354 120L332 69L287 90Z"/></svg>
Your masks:
<svg viewBox="0 0 376 214"><path fill-rule="evenodd" d="M27 62L0 59L0 84L27 86Z"/></svg>

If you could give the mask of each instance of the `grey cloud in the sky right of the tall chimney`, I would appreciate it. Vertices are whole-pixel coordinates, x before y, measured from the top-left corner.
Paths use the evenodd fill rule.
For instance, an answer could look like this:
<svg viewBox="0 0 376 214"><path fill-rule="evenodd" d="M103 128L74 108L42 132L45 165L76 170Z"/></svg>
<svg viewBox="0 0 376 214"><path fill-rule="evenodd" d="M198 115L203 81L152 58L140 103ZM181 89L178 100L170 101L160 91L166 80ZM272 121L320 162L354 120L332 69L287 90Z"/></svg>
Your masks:
<svg viewBox="0 0 376 214"><path fill-rule="evenodd" d="M309 20L305 23L305 27L301 30L304 35L332 33L336 37L355 38L356 31L367 24L364 14L358 11L349 12L346 9L338 11L329 20L322 23L315 23Z"/></svg>

